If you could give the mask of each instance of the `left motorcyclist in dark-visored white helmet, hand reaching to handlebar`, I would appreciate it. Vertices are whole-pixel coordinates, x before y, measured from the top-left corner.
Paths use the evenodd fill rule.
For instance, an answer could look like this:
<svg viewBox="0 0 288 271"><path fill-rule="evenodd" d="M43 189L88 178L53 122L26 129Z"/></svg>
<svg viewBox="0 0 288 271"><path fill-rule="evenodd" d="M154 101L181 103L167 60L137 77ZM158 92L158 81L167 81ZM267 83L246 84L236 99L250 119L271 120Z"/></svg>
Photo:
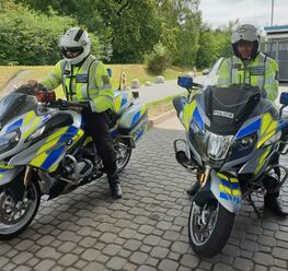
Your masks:
<svg viewBox="0 0 288 271"><path fill-rule="evenodd" d="M93 138L96 151L107 173L112 197L122 198L123 191L116 166L116 153L110 134L110 117L114 109L113 90L104 64L90 54L91 42L87 31L80 27L68 30L59 42L64 59L41 82L54 90L64 86L67 101L84 103L87 131ZM35 80L30 80L35 85Z"/></svg>

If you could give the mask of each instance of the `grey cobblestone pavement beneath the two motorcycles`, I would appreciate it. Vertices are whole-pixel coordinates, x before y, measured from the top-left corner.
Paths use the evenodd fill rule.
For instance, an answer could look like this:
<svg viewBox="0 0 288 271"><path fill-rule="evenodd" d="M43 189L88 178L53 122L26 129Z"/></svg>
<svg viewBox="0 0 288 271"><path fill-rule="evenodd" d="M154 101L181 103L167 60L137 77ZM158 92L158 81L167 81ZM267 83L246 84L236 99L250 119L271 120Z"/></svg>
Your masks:
<svg viewBox="0 0 288 271"><path fill-rule="evenodd" d="M287 270L288 220L258 220L246 204L222 252L195 256L185 195L192 177L173 153L181 137L164 129L146 134L120 176L120 200L111 199L106 179L43 200L25 233L0 241L0 270Z"/></svg>

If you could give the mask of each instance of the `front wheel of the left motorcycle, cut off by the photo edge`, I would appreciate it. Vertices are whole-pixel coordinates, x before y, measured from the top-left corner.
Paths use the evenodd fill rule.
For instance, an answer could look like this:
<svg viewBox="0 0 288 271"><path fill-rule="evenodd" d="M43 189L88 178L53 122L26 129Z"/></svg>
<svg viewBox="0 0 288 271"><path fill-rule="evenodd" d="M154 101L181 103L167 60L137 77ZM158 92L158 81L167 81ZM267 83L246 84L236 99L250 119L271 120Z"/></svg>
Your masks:
<svg viewBox="0 0 288 271"><path fill-rule="evenodd" d="M15 189L15 187L13 187ZM41 202L38 181L32 181L21 201L11 196L11 188L0 189L0 240L11 239L31 224Z"/></svg>

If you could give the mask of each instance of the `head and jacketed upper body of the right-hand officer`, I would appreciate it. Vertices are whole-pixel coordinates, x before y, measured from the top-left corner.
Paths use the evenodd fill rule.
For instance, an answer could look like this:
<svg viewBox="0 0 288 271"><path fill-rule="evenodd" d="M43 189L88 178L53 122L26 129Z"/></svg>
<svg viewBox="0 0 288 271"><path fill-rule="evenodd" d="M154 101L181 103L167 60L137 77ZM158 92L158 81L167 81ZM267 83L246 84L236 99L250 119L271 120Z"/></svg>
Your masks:
<svg viewBox="0 0 288 271"><path fill-rule="evenodd" d="M234 56L226 59L219 70L218 85L250 84L265 91L266 97L275 101L278 95L278 66L260 51L257 28L242 24L231 36Z"/></svg>

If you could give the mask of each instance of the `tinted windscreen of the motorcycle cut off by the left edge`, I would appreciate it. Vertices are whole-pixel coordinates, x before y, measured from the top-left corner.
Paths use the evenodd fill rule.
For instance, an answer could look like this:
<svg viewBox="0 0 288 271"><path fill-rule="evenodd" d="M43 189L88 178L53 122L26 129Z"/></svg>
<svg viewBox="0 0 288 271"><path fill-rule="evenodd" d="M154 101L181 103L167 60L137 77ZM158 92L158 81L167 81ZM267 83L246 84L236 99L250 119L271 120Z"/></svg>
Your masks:
<svg viewBox="0 0 288 271"><path fill-rule="evenodd" d="M3 125L14 116L31 110L36 104L33 96L15 92L8 94L0 99L0 123Z"/></svg>

